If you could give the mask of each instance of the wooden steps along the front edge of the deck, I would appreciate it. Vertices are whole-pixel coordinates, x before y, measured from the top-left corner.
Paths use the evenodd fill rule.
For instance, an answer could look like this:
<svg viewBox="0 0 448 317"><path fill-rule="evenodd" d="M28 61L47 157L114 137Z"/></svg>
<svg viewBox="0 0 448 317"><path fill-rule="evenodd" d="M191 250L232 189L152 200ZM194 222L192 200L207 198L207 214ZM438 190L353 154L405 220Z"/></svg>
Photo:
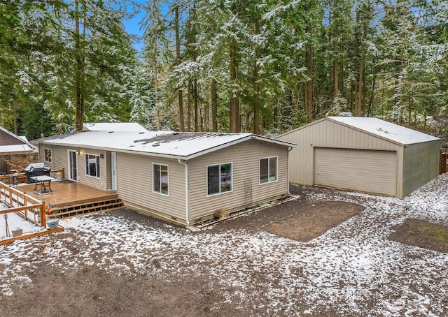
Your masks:
<svg viewBox="0 0 448 317"><path fill-rule="evenodd" d="M53 206L51 214L48 214L48 218L71 218L74 216L97 214L99 212L109 212L123 207L123 201L118 198L118 195L108 196L97 198L96 200L77 202L69 206Z"/></svg>

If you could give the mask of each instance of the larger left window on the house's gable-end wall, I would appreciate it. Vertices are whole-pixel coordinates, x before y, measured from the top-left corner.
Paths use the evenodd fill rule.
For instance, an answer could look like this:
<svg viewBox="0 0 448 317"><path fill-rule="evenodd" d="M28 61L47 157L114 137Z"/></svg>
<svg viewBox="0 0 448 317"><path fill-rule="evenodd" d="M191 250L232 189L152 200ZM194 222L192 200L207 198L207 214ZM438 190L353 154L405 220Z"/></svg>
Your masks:
<svg viewBox="0 0 448 317"><path fill-rule="evenodd" d="M232 163L207 166L207 195L232 191Z"/></svg>

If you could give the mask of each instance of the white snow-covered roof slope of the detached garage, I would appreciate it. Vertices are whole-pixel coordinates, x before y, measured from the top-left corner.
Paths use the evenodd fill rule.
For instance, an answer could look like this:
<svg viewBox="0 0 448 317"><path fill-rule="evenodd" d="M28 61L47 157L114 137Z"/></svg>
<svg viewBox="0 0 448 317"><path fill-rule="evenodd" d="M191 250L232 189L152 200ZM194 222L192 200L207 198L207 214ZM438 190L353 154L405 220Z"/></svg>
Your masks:
<svg viewBox="0 0 448 317"><path fill-rule="evenodd" d="M421 133L419 131L398 126L388 121L377 118L366 117L327 117L328 119L338 121L347 126L352 126L367 133L377 135L381 138L400 143L401 145L409 145L414 143L428 142L439 140L433 135Z"/></svg>

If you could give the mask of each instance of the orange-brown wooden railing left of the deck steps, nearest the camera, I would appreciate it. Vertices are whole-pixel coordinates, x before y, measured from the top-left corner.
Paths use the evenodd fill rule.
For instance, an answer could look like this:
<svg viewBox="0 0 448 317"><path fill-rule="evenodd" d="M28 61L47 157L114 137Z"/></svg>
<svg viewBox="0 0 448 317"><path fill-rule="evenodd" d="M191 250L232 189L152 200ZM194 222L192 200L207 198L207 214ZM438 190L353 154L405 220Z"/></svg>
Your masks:
<svg viewBox="0 0 448 317"><path fill-rule="evenodd" d="M9 207L8 209L0 210L0 214L15 212L22 218L37 223L41 227L46 226L45 202L22 193L22 191L18 191L18 189L2 182L0 182L0 200ZM37 210L38 213L36 212ZM37 215L40 217L37 217Z"/></svg>

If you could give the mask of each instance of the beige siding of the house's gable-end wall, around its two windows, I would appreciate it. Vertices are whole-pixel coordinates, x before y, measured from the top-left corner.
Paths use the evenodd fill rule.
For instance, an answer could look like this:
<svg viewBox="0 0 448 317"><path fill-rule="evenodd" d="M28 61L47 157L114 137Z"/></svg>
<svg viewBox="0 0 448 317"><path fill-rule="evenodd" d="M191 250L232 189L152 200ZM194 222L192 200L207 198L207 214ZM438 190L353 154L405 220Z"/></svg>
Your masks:
<svg viewBox="0 0 448 317"><path fill-rule="evenodd" d="M278 156L278 181L260 184L260 158ZM232 163L232 192L207 197L207 165ZM217 209L232 212L288 194L288 147L248 140L188 162L190 220L206 219ZM245 186L249 184L249 186ZM251 187L251 197L246 195ZM250 199L249 199L250 198Z"/></svg>

